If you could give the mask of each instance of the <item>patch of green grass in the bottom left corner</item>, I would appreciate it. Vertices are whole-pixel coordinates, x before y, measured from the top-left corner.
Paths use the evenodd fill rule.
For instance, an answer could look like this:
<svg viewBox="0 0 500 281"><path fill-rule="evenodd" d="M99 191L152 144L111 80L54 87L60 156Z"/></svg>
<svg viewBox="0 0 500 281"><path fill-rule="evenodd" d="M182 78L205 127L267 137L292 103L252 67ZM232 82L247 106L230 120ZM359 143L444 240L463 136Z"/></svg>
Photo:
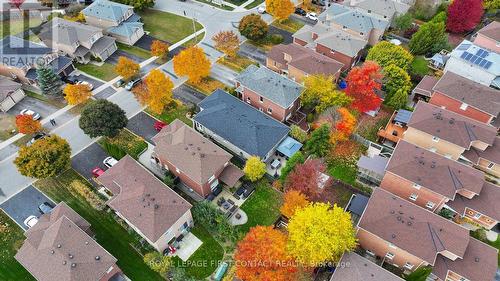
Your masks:
<svg viewBox="0 0 500 281"><path fill-rule="evenodd" d="M24 241L21 228L0 210L0 280L35 280L14 255Z"/></svg>

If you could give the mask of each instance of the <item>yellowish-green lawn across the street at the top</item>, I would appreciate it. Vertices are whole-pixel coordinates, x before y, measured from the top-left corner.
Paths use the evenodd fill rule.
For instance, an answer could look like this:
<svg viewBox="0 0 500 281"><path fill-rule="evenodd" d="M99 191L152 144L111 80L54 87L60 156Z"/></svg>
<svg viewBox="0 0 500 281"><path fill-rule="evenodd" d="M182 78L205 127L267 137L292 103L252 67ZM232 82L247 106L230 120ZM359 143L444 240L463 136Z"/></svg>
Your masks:
<svg viewBox="0 0 500 281"><path fill-rule="evenodd" d="M141 11L139 15L144 22L144 30L149 31L151 36L170 44L194 33L193 21L189 18L152 9ZM196 31L203 28L199 22L196 22L195 26Z"/></svg>

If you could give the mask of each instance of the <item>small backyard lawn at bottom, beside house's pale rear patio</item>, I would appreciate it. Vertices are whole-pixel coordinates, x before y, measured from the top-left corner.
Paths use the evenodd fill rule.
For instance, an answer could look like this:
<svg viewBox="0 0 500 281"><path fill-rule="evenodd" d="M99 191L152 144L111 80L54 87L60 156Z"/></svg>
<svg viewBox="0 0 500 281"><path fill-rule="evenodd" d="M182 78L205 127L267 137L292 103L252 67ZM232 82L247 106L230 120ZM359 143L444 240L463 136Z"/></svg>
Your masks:
<svg viewBox="0 0 500 281"><path fill-rule="evenodd" d="M191 232L203 244L189 257L187 262L174 257L174 266L184 267L186 274L197 280L202 280L209 277L217 269L219 262L224 257L224 249L202 226L195 226Z"/></svg>

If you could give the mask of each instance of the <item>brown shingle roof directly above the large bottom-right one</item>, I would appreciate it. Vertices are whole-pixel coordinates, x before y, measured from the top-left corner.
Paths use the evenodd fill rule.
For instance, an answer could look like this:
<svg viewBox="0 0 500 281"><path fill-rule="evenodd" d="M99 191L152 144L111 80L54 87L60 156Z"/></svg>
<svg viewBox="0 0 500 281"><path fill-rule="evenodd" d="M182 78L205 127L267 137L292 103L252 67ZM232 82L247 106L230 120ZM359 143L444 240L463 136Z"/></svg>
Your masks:
<svg viewBox="0 0 500 281"><path fill-rule="evenodd" d="M386 170L449 199L461 189L479 194L484 183L483 172L404 140L396 145Z"/></svg>

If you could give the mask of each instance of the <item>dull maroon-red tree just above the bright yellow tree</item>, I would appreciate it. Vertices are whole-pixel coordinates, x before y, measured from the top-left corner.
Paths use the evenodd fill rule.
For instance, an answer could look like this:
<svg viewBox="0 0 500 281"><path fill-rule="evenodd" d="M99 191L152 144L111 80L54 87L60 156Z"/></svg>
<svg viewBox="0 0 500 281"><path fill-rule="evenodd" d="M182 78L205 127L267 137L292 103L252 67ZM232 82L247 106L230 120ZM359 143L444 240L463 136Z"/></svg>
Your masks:
<svg viewBox="0 0 500 281"><path fill-rule="evenodd" d="M310 159L304 164L298 164L288 175L285 190L297 190L311 200L318 200L323 191L321 187L328 185L321 177L325 170L325 165L319 159Z"/></svg>

